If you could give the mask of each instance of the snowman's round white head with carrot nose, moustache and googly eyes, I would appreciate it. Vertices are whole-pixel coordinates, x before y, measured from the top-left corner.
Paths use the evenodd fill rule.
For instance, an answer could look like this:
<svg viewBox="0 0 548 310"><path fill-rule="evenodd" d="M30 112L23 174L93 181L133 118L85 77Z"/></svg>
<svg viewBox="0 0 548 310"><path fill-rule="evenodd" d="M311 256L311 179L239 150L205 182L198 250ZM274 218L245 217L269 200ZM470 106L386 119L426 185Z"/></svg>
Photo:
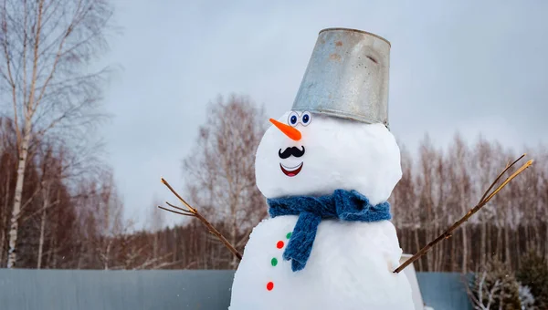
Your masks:
<svg viewBox="0 0 548 310"><path fill-rule="evenodd" d="M400 150L383 124L290 111L258 145L255 174L267 198L355 190L371 203L390 197L402 176Z"/></svg>

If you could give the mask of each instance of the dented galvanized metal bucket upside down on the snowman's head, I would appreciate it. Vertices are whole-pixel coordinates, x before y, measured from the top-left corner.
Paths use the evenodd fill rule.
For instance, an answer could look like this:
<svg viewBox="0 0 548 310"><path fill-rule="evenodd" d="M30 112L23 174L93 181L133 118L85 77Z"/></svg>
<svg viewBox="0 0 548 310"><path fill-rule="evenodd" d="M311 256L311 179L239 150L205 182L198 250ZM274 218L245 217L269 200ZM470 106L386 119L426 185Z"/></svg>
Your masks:
<svg viewBox="0 0 548 310"><path fill-rule="evenodd" d="M388 127L390 42L345 28L320 31L293 110Z"/></svg>

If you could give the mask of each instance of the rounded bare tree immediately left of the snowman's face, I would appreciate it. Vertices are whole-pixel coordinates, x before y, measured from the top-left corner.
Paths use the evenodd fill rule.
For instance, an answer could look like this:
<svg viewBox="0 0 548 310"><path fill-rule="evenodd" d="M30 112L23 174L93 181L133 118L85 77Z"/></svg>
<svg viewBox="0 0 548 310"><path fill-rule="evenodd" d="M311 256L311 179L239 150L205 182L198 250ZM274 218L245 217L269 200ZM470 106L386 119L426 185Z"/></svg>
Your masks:
<svg viewBox="0 0 548 310"><path fill-rule="evenodd" d="M265 131L262 109L246 97L217 98L197 145L184 160L190 200L211 222L223 222L227 240L237 249L267 214L255 183L255 151ZM237 258L231 257L232 267Z"/></svg>

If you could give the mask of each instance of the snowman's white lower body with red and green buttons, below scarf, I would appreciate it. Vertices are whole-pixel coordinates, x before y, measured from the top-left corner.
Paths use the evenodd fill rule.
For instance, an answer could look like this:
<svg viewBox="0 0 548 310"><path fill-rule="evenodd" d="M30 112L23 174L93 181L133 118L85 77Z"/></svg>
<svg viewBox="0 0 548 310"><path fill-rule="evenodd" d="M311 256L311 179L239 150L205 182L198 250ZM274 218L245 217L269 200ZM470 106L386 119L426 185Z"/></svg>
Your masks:
<svg viewBox="0 0 548 310"><path fill-rule="evenodd" d="M414 309L406 276L392 273L402 252L391 222L322 221L309 262L296 273L281 257L295 222L268 219L251 233L230 310Z"/></svg>

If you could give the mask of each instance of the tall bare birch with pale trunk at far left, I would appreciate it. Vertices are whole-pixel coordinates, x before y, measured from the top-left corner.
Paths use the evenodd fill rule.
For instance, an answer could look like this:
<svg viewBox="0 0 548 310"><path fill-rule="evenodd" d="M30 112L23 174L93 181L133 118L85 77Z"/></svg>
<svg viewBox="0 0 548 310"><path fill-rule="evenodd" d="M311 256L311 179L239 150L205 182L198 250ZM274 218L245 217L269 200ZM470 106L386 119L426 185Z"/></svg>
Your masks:
<svg viewBox="0 0 548 310"><path fill-rule="evenodd" d="M30 146L47 135L84 137L100 117L107 68L90 72L112 29L106 0L2 0L0 100L10 102L16 127L16 187L7 267L16 245ZM78 139L78 138L77 138Z"/></svg>

